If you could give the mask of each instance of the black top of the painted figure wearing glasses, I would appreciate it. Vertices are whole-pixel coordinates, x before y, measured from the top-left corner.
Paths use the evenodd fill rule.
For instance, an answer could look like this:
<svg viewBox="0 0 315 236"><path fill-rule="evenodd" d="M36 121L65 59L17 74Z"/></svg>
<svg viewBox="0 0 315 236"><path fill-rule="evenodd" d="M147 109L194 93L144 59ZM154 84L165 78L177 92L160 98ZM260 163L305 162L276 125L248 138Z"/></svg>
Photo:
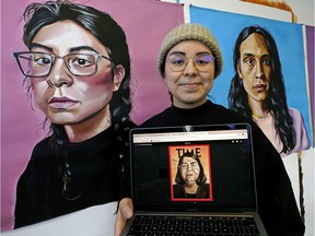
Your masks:
<svg viewBox="0 0 315 236"><path fill-rule="evenodd" d="M122 161L114 127L80 143L69 143L65 133L61 142L55 135L56 130L36 144L19 179L15 228L118 200ZM67 186L65 172L71 177Z"/></svg>

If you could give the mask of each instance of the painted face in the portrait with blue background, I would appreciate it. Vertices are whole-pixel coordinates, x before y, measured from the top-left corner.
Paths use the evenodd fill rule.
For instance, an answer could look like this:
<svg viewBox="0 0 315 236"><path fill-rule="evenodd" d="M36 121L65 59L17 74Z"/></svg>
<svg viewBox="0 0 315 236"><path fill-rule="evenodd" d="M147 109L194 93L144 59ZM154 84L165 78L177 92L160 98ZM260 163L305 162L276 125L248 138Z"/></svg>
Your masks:
<svg viewBox="0 0 315 236"><path fill-rule="evenodd" d="M240 47L241 58L237 67L243 80L249 105L264 103L268 96L271 72L271 59L264 37L249 35Z"/></svg>

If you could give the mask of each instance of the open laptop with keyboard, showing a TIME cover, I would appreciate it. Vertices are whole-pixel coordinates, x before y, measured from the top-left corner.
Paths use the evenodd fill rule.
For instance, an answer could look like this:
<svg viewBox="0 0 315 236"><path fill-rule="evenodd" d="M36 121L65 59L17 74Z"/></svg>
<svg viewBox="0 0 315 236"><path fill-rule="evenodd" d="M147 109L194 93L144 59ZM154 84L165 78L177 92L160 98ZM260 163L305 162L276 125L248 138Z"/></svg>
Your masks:
<svg viewBox="0 0 315 236"><path fill-rule="evenodd" d="M247 123L130 130L135 214L122 236L267 235Z"/></svg>

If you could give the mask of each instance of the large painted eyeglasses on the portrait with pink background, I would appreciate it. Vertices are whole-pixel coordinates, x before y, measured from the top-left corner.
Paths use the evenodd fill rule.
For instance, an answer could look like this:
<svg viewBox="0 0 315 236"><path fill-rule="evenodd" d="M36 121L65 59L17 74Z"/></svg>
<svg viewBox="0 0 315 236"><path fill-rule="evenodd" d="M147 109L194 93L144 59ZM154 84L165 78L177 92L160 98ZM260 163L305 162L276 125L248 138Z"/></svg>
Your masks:
<svg viewBox="0 0 315 236"><path fill-rule="evenodd" d="M25 76L47 76L56 61L63 59L68 70L77 76L86 76L96 73L100 58L113 62L110 58L97 54L69 54L63 57L36 51L13 52L18 64Z"/></svg>

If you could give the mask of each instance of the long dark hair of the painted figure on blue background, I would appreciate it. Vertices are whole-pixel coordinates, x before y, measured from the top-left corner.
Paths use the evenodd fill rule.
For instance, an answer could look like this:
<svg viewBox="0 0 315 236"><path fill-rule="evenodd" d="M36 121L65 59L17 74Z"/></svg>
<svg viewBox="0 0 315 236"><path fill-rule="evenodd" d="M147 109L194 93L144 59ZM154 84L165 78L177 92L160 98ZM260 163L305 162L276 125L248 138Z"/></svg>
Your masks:
<svg viewBox="0 0 315 236"><path fill-rule="evenodd" d="M233 66L235 70L235 75L231 81L230 92L229 92L229 107L233 110L241 113L247 117L252 117L252 109L248 105L247 93L243 85L243 80L238 76L237 64L241 59L240 47L241 44L252 34L259 34L265 38L266 45L268 47L268 52L271 58L271 78L270 78L270 88L268 91L268 97L265 104L265 108L271 111L275 117L275 128L283 143L283 149L281 152L288 153L295 146L295 132L293 127L293 119L289 114L287 105L287 95L284 81L282 75L280 57L277 48L276 40L271 34L264 27L258 25L253 25L243 28L238 34L235 42L233 51Z"/></svg>

